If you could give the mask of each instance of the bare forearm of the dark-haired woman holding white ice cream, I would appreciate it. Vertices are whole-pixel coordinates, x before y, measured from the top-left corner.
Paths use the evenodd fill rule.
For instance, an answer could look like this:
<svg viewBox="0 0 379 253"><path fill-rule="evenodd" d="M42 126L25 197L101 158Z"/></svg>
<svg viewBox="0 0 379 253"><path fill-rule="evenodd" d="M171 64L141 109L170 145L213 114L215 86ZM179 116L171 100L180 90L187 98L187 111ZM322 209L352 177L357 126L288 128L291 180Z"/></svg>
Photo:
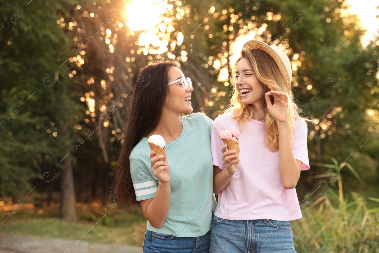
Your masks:
<svg viewBox="0 0 379 253"><path fill-rule="evenodd" d="M146 209L146 218L150 224L155 228L163 226L164 220L166 220L171 199L171 187L170 182L162 183L158 185L157 192L153 200L150 202Z"/></svg>

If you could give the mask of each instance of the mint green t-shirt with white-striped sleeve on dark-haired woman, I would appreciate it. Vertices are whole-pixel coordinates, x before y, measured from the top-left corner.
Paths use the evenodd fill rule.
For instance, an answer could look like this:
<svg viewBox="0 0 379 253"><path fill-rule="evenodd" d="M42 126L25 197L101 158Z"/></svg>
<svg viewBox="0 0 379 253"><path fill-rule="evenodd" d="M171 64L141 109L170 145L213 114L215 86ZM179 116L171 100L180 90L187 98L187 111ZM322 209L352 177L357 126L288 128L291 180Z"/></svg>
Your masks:
<svg viewBox="0 0 379 253"><path fill-rule="evenodd" d="M180 136L166 143L170 165L171 201L161 228L147 221L150 231L178 237L206 234L216 207L213 189L213 160L210 144L212 120L202 113L180 117L183 129ZM130 174L137 200L154 198L159 179L150 167L151 149L147 138L130 154Z"/></svg>

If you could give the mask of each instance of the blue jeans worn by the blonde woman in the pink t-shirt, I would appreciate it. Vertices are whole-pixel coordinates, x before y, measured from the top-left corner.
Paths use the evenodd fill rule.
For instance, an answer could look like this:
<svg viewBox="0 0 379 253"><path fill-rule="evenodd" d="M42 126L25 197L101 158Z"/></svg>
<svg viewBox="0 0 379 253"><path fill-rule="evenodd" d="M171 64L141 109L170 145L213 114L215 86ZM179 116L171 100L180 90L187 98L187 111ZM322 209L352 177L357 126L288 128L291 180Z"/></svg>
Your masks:
<svg viewBox="0 0 379 253"><path fill-rule="evenodd" d="M293 253L291 223L213 217L210 253Z"/></svg>

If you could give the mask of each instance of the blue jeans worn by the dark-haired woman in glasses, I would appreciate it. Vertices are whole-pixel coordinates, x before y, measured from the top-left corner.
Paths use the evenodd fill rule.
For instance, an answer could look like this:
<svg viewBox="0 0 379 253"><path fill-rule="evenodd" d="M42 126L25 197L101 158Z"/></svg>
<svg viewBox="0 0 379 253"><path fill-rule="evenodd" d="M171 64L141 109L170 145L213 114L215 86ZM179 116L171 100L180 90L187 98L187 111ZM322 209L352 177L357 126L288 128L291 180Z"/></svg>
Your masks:
<svg viewBox="0 0 379 253"><path fill-rule="evenodd" d="M176 237L146 230L143 253L208 253L211 231L204 236Z"/></svg>

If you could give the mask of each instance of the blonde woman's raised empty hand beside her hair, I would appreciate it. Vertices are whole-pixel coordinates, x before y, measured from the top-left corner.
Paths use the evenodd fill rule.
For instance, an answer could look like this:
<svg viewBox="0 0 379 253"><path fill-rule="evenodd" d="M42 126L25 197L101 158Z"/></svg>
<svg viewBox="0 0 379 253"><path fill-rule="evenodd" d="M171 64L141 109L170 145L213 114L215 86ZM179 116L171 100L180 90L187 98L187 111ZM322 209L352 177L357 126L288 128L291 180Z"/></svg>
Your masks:
<svg viewBox="0 0 379 253"><path fill-rule="evenodd" d="M268 86L268 88L270 91L265 93L268 112L276 123L286 123L288 118L288 95L274 90L271 86ZM271 104L270 95L274 97L274 104Z"/></svg>

